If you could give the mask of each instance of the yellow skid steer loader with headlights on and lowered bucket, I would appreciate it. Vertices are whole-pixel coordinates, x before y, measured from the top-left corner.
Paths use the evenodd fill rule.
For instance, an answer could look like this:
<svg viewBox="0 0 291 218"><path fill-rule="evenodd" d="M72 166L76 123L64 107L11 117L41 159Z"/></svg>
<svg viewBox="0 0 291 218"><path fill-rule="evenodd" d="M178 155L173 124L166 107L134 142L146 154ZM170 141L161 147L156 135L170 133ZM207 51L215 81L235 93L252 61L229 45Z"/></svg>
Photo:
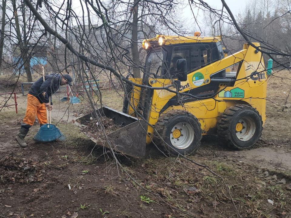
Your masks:
<svg viewBox="0 0 291 218"><path fill-rule="evenodd" d="M105 147L141 158L152 140L173 155L197 150L202 135L218 134L239 149L259 140L266 120L262 53L244 44L229 55L220 37L199 35L158 35L143 41L147 51L143 78L127 76L135 85L126 84L122 112L109 107L96 111L122 127L109 134L112 143ZM87 114L76 124L84 126L92 118L94 113Z"/></svg>

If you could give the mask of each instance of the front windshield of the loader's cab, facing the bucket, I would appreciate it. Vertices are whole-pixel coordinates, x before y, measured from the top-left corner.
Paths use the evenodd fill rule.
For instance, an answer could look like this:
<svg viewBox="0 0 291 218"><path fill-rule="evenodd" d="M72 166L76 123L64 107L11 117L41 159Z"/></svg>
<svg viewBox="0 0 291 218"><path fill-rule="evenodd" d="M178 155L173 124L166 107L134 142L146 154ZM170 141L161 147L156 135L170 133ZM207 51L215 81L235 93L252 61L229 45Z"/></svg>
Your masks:
<svg viewBox="0 0 291 218"><path fill-rule="evenodd" d="M161 76L163 60L164 53L162 50L152 51L146 60L146 74L150 77L152 77L153 74Z"/></svg>

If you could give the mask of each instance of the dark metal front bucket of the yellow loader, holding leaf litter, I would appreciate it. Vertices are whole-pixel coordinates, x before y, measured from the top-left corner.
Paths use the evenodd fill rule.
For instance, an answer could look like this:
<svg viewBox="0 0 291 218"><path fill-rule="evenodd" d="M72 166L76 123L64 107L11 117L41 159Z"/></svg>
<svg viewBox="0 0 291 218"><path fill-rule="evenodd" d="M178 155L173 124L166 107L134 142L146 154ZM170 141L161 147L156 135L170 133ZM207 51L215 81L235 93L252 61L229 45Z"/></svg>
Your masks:
<svg viewBox="0 0 291 218"><path fill-rule="evenodd" d="M96 112L99 117L105 116L112 119L114 124L122 127L107 135L110 144L105 142L106 140L96 140L83 128L91 122L92 118L95 118L95 113L90 113L75 121L75 124L87 137L96 144L103 145L107 148L111 147L113 150L122 154L136 158L145 156L147 134L147 124L145 121L106 106L101 107Z"/></svg>

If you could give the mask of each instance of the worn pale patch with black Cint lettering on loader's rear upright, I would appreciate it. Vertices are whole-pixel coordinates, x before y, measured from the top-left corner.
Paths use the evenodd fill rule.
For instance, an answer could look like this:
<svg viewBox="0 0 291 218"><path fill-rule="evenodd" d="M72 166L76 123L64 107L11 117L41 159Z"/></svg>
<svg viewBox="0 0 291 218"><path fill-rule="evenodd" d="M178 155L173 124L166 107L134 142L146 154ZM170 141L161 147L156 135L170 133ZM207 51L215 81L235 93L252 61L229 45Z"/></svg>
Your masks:
<svg viewBox="0 0 291 218"><path fill-rule="evenodd" d="M262 62L260 61L249 61L245 62L245 71L246 77L250 78L251 80L259 80L265 81L266 80L266 71L263 67Z"/></svg>

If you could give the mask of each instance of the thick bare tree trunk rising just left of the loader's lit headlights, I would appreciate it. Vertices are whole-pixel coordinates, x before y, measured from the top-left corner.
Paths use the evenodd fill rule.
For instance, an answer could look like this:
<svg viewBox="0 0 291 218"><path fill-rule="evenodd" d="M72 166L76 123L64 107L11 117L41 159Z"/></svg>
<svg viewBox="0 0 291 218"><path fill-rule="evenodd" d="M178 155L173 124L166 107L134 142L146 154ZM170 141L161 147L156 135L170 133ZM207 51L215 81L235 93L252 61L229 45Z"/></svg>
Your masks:
<svg viewBox="0 0 291 218"><path fill-rule="evenodd" d="M133 1L133 8L132 8L133 19L132 19L132 23L131 23L131 27L132 27L131 54L132 54L132 60L134 62L133 76L135 78L140 78L140 70L138 68L138 66L139 66L139 47L137 45L138 15L139 15L138 8L139 8L138 0L134 0Z"/></svg>

